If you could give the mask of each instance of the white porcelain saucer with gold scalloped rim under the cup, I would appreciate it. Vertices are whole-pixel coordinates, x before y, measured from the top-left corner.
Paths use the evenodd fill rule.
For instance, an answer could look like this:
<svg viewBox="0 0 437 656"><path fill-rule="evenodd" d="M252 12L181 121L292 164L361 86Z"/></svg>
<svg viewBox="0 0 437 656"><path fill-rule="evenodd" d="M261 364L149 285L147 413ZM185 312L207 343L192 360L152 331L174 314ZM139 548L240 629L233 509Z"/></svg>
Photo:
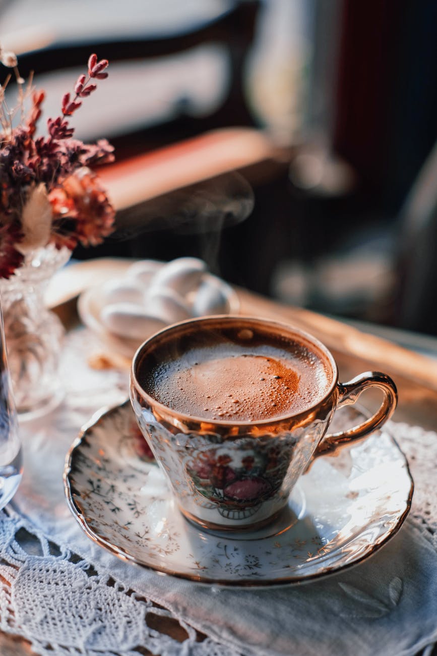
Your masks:
<svg viewBox="0 0 437 656"><path fill-rule="evenodd" d="M332 429L360 418L342 409ZM96 413L83 428L67 454L64 483L86 535L113 554L160 573L233 586L299 583L357 564L398 531L413 493L406 458L383 429L316 459L288 508L261 531L201 531L178 510L129 401Z"/></svg>

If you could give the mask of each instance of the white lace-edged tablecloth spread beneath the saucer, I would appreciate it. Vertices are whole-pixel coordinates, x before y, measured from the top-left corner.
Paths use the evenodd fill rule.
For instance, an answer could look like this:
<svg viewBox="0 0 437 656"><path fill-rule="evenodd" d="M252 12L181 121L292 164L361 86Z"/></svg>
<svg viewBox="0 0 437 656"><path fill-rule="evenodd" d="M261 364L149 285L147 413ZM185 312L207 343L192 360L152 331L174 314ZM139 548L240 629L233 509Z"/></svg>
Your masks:
<svg viewBox="0 0 437 656"><path fill-rule="evenodd" d="M86 365L96 348L86 331L69 336L66 400L49 417L22 424L24 478L0 514L1 630L45 656L430 652L437 641L437 434L391 423L415 480L413 506L399 533L363 564L261 590L162 577L89 541L64 498L71 441L96 409L126 396L126 372ZM183 642L160 632L162 617L180 623Z"/></svg>

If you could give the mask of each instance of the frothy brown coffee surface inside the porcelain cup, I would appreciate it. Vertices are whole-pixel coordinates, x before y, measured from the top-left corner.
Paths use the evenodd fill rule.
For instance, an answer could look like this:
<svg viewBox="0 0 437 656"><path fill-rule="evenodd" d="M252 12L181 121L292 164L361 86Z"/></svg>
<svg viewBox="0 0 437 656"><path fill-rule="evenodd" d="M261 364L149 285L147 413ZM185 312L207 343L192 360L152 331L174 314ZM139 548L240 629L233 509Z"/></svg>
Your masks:
<svg viewBox="0 0 437 656"><path fill-rule="evenodd" d="M332 373L321 354L286 338L250 335L204 331L188 343L164 346L142 361L138 380L178 413L221 421L295 415L324 396Z"/></svg>

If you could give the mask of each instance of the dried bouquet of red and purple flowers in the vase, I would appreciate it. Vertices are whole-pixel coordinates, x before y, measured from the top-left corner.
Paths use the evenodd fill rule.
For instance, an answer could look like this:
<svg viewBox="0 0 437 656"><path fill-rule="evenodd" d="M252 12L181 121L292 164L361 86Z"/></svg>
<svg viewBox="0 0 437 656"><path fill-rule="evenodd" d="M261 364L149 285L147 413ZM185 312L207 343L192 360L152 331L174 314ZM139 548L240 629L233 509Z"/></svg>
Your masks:
<svg viewBox="0 0 437 656"><path fill-rule="evenodd" d="M39 247L96 245L112 232L114 210L92 167L113 161L113 147L105 139L84 144L69 125L96 81L107 77L107 60L90 56L87 74L62 98L60 115L48 119L47 136L37 136L44 92L31 79L26 84L13 52L0 47L0 61L12 71L0 86L0 277L9 278ZM12 74L18 103L9 109L5 88Z"/></svg>

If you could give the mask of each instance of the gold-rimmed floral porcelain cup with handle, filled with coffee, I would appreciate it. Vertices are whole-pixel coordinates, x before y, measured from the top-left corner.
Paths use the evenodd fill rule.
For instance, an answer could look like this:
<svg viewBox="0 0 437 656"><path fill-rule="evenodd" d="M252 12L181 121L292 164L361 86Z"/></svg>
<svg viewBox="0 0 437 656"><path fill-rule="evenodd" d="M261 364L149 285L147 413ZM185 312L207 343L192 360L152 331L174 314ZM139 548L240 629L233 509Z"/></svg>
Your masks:
<svg viewBox="0 0 437 656"><path fill-rule="evenodd" d="M383 392L373 417L327 435L334 411L370 387ZM240 531L276 518L314 458L382 426L397 392L378 372L338 382L326 346L288 325L213 316L145 341L132 362L130 398L183 515L206 529Z"/></svg>

